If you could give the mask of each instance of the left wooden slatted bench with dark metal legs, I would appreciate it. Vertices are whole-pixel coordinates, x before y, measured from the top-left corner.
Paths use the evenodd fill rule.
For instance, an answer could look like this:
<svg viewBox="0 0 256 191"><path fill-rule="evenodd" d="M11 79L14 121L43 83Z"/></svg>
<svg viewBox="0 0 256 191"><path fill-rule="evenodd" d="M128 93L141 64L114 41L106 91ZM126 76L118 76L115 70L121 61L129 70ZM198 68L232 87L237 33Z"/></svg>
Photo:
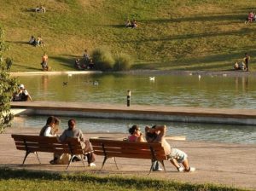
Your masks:
<svg viewBox="0 0 256 191"><path fill-rule="evenodd" d="M71 164L73 158L79 155L84 165L84 150L82 149L81 143L77 138L68 138L66 142L58 142L56 137L48 136L31 136L31 135L11 135L15 140L15 145L18 150L25 150L26 154L23 159L22 165L25 164L26 157L30 153L34 153L41 164L38 157L38 152L44 153L69 153L71 159L69 159L67 169ZM84 165L85 166L85 165Z"/></svg>

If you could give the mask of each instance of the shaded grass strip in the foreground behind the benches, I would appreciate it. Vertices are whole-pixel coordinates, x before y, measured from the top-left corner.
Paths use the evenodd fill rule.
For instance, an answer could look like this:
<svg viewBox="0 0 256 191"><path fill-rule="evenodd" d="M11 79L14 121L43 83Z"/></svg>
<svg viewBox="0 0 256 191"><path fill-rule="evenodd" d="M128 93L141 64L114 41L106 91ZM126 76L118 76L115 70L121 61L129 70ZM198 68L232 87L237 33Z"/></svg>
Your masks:
<svg viewBox="0 0 256 191"><path fill-rule="evenodd" d="M201 190L244 189L200 185L145 178L98 177L89 174L61 174L0 168L0 190Z"/></svg>

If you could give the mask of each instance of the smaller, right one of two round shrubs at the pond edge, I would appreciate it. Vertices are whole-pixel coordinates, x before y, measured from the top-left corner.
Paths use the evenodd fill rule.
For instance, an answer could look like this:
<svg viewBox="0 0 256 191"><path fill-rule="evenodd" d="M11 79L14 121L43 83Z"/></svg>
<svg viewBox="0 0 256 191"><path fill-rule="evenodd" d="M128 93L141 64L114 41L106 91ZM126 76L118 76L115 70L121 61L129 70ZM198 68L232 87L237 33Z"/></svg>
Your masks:
<svg viewBox="0 0 256 191"><path fill-rule="evenodd" d="M132 63L130 55L120 54L115 58L113 69L116 71L129 70Z"/></svg>

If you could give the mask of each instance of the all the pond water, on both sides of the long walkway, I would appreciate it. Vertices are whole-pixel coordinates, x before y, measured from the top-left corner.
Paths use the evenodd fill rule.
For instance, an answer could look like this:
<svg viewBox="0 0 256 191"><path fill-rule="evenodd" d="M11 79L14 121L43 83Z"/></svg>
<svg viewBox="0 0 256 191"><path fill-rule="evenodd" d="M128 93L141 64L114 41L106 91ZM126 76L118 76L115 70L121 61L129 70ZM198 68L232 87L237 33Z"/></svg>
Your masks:
<svg viewBox="0 0 256 191"><path fill-rule="evenodd" d="M19 77L34 101L76 101L175 107L215 107L256 109L256 78L197 75L53 75ZM63 84L64 82L64 84ZM66 85L67 84L67 85ZM15 118L14 127L44 126L45 116ZM169 136L186 136L191 141L256 143L256 128L248 125L188 124L165 121L75 118L86 132L126 133L127 126L166 124ZM61 118L61 127L67 126Z"/></svg>

